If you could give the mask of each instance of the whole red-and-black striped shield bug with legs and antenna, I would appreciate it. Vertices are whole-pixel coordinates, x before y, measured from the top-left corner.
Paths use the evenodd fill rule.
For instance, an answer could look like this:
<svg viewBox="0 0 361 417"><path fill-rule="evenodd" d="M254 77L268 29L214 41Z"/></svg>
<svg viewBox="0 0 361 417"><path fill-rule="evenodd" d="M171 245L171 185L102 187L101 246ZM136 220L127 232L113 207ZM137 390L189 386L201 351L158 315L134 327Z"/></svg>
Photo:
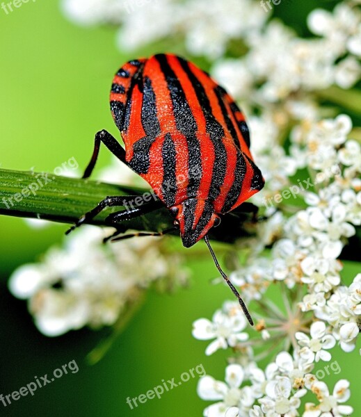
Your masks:
<svg viewBox="0 0 361 417"><path fill-rule="evenodd" d="M113 78L110 104L125 149L110 133L99 131L83 178L93 171L103 142L150 184L157 198L131 210L111 213L107 222L119 224L165 205L185 247L204 238L216 267L253 325L241 296L221 270L208 238L209 230L218 226L223 214L264 186L262 174L252 161L250 133L243 113L207 72L172 54L131 60L123 65ZM125 206L127 199L106 197L67 233L106 207ZM136 234L144 235L149 234ZM135 235L112 240L128 236Z"/></svg>

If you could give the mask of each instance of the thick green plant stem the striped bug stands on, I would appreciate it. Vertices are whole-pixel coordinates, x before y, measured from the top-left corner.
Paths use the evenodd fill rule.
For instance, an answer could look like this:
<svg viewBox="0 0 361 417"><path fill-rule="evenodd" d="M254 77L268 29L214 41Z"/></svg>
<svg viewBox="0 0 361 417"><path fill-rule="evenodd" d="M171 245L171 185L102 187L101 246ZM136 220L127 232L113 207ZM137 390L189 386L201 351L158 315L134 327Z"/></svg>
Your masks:
<svg viewBox="0 0 361 417"><path fill-rule="evenodd" d="M0 214L16 217L71 224L108 195L142 195L145 192L147 190L89 179L0 170ZM109 213L122 209L124 207L107 208L88 224L106 226L105 219ZM167 209L162 208L128 220L126 224L128 229L159 231L171 227L172 218Z"/></svg>

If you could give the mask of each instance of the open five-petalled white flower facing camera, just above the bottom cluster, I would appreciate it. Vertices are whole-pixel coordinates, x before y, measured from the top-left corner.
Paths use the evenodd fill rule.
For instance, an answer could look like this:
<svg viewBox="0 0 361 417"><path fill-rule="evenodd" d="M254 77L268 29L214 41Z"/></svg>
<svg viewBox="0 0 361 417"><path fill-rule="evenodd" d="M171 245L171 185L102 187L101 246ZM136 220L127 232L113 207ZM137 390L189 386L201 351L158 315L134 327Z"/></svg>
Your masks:
<svg viewBox="0 0 361 417"><path fill-rule="evenodd" d="M318 362L320 359L330 361L331 354L326 352L325 349L334 347L336 341L332 335L326 334L325 323L321 321L312 323L310 334L311 339L303 332L296 332L295 334L298 345L301 346L300 357L305 359L307 363Z"/></svg>

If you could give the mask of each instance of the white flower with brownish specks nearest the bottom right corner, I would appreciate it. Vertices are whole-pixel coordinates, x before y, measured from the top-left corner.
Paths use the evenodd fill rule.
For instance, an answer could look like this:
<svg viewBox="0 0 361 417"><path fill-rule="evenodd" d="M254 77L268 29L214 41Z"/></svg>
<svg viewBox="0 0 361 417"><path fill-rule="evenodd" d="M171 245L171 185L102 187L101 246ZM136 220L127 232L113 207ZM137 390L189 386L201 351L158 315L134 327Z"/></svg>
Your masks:
<svg viewBox="0 0 361 417"><path fill-rule="evenodd" d="M332 395L328 391L328 386L321 381L312 384L312 392L317 396L319 404L316 406L312 403L306 404L306 411L303 417L331 417L331 416L349 416L353 408L349 405L342 405L350 398L350 383L346 379L340 379Z"/></svg>

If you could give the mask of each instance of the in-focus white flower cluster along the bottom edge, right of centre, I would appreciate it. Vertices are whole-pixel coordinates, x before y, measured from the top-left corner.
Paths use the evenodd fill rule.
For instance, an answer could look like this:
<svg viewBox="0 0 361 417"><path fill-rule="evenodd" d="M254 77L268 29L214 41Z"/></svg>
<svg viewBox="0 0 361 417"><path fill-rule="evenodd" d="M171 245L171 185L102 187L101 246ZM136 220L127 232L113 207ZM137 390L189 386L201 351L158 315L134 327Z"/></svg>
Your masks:
<svg viewBox="0 0 361 417"><path fill-rule="evenodd" d="M350 398L349 383L340 379L332 395L327 385L312 374L314 366L288 352L280 352L263 371L255 362L246 366L232 363L225 369L225 382L208 375L198 384L203 400L216 400L204 409L204 417L296 417L300 398L307 392L317 404L306 403L303 417L348 416L353 408L344 405ZM324 373L320 373L321 377ZM244 383L247 384L244 384ZM259 404L255 404L255 402Z"/></svg>

